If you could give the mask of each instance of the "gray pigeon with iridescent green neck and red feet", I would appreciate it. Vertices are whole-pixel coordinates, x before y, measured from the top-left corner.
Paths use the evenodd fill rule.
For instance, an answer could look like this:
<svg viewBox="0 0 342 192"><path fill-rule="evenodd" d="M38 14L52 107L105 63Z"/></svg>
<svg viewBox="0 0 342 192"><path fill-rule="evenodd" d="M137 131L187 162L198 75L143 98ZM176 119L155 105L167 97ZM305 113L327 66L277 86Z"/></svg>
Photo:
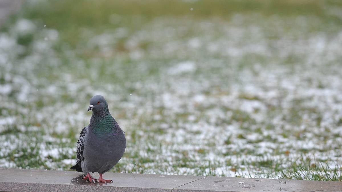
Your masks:
<svg viewBox="0 0 342 192"><path fill-rule="evenodd" d="M106 173L121 159L126 149L125 133L121 130L116 120L110 115L108 104L101 95L95 95L90 99L88 111L93 114L90 123L85 126L77 141L76 165L71 169L87 174L82 179L90 182L113 182L103 179ZM100 174L99 179L94 179L90 173Z"/></svg>

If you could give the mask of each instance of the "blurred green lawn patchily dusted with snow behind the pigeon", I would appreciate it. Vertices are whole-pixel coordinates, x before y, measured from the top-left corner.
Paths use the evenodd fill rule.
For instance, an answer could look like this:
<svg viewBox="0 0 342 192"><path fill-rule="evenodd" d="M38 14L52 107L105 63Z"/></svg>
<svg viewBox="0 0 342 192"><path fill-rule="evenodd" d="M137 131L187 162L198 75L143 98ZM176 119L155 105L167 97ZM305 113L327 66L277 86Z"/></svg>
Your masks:
<svg viewBox="0 0 342 192"><path fill-rule="evenodd" d="M342 3L26 0L0 29L0 167L69 170L103 95L112 172L342 180Z"/></svg>

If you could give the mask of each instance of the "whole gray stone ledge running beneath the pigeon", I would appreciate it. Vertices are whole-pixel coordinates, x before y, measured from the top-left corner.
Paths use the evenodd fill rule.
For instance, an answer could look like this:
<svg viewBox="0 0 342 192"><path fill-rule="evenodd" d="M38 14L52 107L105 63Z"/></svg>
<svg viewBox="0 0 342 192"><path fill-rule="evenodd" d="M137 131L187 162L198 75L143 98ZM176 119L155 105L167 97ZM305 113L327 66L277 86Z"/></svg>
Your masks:
<svg viewBox="0 0 342 192"><path fill-rule="evenodd" d="M342 182L106 173L90 183L74 171L0 169L0 191L342 191ZM98 178L98 174L92 174Z"/></svg>

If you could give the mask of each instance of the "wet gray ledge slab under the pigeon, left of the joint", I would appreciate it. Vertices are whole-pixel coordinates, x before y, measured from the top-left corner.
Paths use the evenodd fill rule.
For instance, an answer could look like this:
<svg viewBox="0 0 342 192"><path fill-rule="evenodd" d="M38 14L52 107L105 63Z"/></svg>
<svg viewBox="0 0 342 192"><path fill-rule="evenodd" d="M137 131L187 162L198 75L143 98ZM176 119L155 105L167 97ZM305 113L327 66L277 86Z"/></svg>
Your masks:
<svg viewBox="0 0 342 192"><path fill-rule="evenodd" d="M93 191L99 187L104 191L171 191L188 182L200 179L200 176L172 176L172 175L149 175L149 174L125 174L105 173L104 179L111 179L113 183L90 183L81 178L83 173L75 171L53 170L28 170L28 169L0 169L0 191L11 191L11 186L22 186L15 191L23 191L27 187L39 187L39 191L45 191L43 185L47 184L46 191ZM91 174L98 178L98 174ZM51 188L53 186L53 188Z"/></svg>

